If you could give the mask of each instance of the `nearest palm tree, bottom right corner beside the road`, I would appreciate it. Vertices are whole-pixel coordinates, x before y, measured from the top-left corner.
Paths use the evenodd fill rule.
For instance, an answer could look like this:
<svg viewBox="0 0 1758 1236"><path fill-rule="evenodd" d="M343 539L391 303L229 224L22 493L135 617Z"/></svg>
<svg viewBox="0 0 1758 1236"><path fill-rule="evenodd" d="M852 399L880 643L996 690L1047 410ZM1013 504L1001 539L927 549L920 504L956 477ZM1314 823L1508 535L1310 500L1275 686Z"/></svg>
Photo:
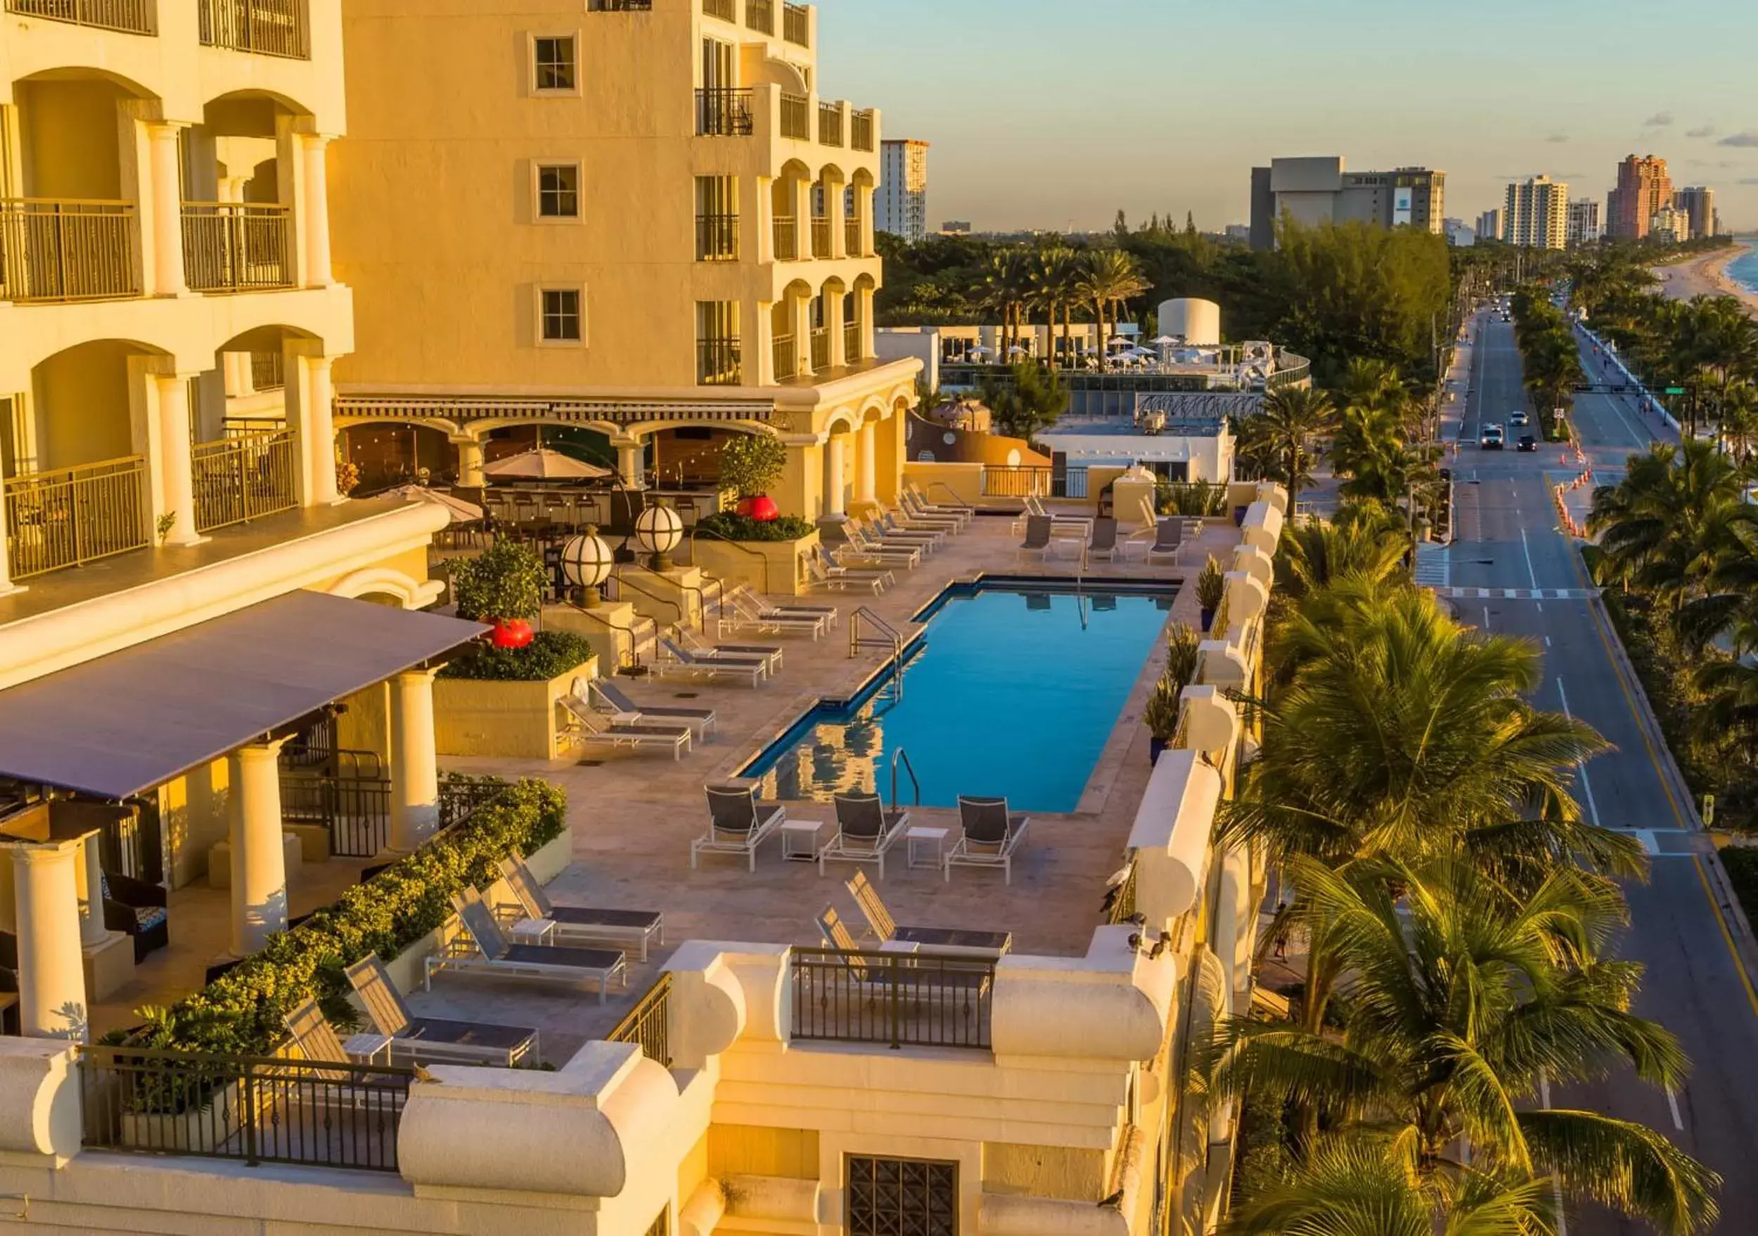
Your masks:
<svg viewBox="0 0 1758 1236"><path fill-rule="evenodd" d="M1327 1143L1368 1136L1426 1192L1463 1192L1478 1174L1503 1190L1549 1178L1667 1236L1714 1225L1719 1178L1665 1136L1533 1104L1542 1085L1614 1067L1684 1081L1672 1034L1630 1011L1640 965L1602 956L1626 920L1616 884L1559 867L1514 890L1447 860L1292 867L1341 960L1343 1032L1234 1018L1201 1058L1213 1095L1304 1104L1296 1152L1333 1187Z"/></svg>

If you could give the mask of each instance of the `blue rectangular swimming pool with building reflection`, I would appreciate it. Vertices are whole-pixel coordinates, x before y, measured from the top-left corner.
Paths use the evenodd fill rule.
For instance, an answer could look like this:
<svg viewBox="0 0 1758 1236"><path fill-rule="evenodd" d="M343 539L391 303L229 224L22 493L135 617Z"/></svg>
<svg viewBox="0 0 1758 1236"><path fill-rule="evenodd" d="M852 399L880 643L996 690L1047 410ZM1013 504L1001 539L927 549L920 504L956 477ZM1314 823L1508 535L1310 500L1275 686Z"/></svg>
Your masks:
<svg viewBox="0 0 1758 1236"><path fill-rule="evenodd" d="M1146 585L953 585L918 615L926 629L900 698L881 675L854 700L821 703L740 775L759 779L765 798L890 796L902 747L923 807L1004 795L1014 811L1074 811L1173 596ZM912 796L900 774L898 802Z"/></svg>

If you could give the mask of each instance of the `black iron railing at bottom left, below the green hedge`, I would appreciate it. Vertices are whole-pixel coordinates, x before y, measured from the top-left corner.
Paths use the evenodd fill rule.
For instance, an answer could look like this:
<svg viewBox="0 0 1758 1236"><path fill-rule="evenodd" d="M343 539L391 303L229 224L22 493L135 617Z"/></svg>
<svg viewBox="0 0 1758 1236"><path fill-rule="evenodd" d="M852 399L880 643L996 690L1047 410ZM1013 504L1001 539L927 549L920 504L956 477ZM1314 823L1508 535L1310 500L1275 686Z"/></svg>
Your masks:
<svg viewBox="0 0 1758 1236"><path fill-rule="evenodd" d="M81 1046L84 1145L315 1167L397 1169L413 1069Z"/></svg>

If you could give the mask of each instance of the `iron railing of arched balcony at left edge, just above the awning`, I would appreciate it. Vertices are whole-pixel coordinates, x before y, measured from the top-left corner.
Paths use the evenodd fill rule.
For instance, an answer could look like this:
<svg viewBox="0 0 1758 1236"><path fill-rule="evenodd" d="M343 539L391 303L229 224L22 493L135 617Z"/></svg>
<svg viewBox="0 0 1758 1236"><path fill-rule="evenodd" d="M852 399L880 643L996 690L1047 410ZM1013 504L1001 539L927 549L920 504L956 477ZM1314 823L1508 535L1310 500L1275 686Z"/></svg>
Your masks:
<svg viewBox="0 0 1758 1236"><path fill-rule="evenodd" d="M9 478L5 538L12 578L146 549L146 459Z"/></svg>

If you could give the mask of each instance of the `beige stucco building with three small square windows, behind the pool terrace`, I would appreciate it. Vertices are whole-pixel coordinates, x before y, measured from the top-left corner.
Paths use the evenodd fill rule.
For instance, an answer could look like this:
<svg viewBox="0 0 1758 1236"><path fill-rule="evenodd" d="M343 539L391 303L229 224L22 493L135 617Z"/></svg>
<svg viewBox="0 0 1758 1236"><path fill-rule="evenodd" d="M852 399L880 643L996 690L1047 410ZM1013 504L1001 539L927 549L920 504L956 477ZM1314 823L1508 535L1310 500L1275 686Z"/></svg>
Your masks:
<svg viewBox="0 0 1758 1236"><path fill-rule="evenodd" d="M478 483L540 424L712 489L716 441L770 433L786 513L895 498L918 366L874 360L879 114L819 83L814 9L360 0L343 33L338 425L366 471Z"/></svg>

